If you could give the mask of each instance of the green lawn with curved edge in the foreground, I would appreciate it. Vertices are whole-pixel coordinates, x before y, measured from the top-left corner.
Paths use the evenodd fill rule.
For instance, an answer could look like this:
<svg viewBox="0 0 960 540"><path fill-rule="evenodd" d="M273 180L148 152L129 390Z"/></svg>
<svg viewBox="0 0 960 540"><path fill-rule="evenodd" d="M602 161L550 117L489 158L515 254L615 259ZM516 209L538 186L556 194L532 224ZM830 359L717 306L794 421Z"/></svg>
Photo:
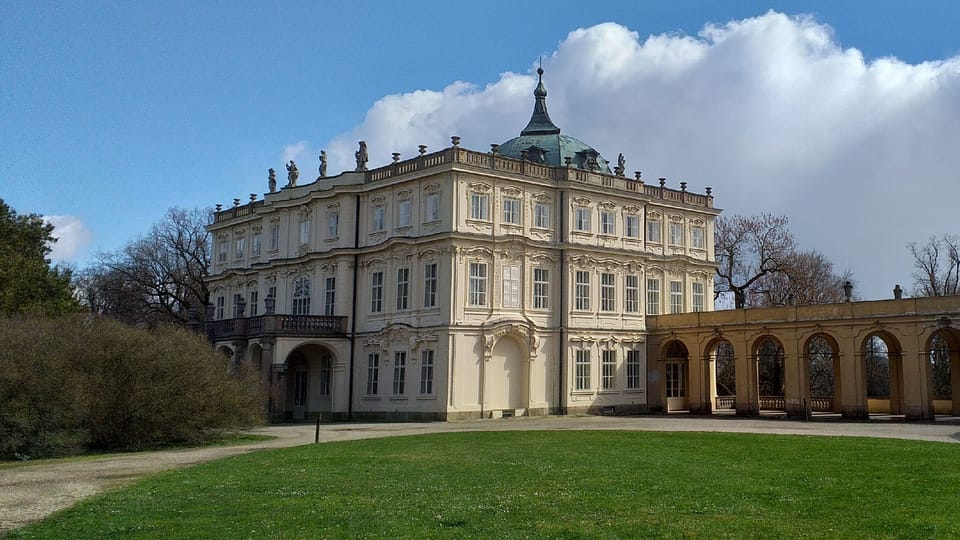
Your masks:
<svg viewBox="0 0 960 540"><path fill-rule="evenodd" d="M447 433L160 474L11 538L956 538L960 445Z"/></svg>

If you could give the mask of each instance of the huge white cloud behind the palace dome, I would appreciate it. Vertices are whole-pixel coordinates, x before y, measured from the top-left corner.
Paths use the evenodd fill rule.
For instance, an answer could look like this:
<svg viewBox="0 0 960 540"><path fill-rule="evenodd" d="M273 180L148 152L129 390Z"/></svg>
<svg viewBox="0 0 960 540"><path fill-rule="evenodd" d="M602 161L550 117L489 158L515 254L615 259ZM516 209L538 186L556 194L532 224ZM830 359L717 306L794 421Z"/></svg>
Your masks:
<svg viewBox="0 0 960 540"><path fill-rule="evenodd" d="M571 32L544 59L551 117L564 133L648 181L714 188L728 213L787 214L805 248L849 267L865 298L909 289L904 245L957 232L960 58L866 62L809 16L768 12L706 26L697 36L604 23ZM390 153L462 145L486 150L516 136L536 76L504 73L485 87L386 96L327 145L330 173Z"/></svg>

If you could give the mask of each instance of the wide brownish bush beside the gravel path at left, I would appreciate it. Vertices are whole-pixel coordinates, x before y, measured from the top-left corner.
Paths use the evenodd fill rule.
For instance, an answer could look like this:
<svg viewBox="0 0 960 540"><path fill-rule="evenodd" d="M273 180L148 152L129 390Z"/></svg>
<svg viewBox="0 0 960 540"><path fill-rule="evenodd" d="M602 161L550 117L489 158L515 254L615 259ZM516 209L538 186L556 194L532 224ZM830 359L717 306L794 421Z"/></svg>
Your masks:
<svg viewBox="0 0 960 540"><path fill-rule="evenodd" d="M180 328L0 319L0 458L198 442L260 422L262 404L258 374Z"/></svg>

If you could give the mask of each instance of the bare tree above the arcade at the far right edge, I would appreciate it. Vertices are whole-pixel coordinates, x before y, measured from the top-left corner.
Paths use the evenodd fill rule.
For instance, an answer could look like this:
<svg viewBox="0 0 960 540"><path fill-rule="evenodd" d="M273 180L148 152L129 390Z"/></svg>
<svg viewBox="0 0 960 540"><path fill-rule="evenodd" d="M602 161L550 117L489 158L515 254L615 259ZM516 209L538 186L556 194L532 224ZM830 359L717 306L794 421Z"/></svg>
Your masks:
<svg viewBox="0 0 960 540"><path fill-rule="evenodd" d="M960 294L960 239L954 235L931 236L927 243L910 242L913 255L913 294L949 296Z"/></svg>

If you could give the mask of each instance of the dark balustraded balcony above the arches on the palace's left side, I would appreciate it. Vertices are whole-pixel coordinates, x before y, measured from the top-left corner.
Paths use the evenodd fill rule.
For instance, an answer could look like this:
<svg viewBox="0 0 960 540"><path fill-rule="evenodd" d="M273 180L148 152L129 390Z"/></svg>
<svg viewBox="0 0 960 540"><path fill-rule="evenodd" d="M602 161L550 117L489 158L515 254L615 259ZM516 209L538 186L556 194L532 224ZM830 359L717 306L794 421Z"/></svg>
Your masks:
<svg viewBox="0 0 960 540"><path fill-rule="evenodd" d="M262 337L343 337L347 317L330 315L261 315L207 323L210 341Z"/></svg>

